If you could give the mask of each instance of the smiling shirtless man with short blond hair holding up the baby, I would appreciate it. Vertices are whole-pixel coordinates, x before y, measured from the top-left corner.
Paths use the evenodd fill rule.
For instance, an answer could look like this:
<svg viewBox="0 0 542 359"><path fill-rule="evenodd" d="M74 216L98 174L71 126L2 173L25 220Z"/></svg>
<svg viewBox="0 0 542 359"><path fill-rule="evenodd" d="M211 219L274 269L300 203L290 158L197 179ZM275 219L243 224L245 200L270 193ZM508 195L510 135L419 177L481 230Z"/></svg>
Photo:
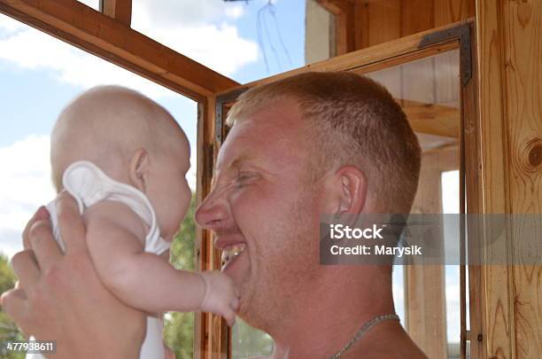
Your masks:
<svg viewBox="0 0 542 359"><path fill-rule="evenodd" d="M275 339L272 357L424 358L397 320L383 320L394 313L391 265L319 262L321 214L410 210L420 147L388 91L356 74L299 74L247 91L228 121L213 191L196 220L224 251L239 316ZM4 296L6 310L31 332L54 319L50 338L36 337L58 339L62 354L74 355L62 357L135 357L127 343L140 333L123 332L117 318L95 320L120 303L97 281L74 203L61 196L58 207L66 255L39 212L25 233L39 269L31 253L14 258L28 293ZM101 304L73 298L79 286ZM71 322L85 335L71 335ZM375 325L360 331L364 324Z"/></svg>

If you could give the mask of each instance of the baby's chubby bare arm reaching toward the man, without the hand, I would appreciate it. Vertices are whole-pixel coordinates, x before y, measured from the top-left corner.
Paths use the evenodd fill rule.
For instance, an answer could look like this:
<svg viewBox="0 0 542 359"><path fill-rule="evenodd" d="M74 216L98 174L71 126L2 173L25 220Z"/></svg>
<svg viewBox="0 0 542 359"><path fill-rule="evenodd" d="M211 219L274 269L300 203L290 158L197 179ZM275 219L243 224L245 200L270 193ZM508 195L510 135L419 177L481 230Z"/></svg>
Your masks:
<svg viewBox="0 0 542 359"><path fill-rule="evenodd" d="M127 206L106 201L89 208L84 219L98 276L120 300L150 313L200 308L205 296L202 277L144 253L146 230Z"/></svg>

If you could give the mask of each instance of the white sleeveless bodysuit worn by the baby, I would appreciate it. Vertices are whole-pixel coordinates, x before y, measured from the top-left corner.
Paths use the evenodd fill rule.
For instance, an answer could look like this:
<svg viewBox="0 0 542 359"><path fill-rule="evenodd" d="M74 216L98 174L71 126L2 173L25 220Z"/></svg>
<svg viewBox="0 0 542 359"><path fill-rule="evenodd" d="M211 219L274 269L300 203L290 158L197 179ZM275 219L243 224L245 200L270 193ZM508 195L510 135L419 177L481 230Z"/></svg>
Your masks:
<svg viewBox="0 0 542 359"><path fill-rule="evenodd" d="M145 238L144 250L151 254L163 254L169 249L169 242L160 238L160 230L156 222L154 209L151 202L135 187L126 183L112 180L109 176L89 161L77 161L66 168L62 183L74 199L77 200L79 211L82 214L88 207L91 207L102 200L115 200L130 207L143 222L149 227L149 233ZM63 251L66 250L64 242L60 238L57 221L57 209L54 201L47 209L50 212L50 219L53 227L53 234L58 245ZM140 359L157 359L164 357L164 345L162 341L162 321L159 318L147 317L147 334L141 347ZM34 339L34 338L31 338ZM92 340L91 338L89 338ZM43 355L29 354L27 359L44 359Z"/></svg>

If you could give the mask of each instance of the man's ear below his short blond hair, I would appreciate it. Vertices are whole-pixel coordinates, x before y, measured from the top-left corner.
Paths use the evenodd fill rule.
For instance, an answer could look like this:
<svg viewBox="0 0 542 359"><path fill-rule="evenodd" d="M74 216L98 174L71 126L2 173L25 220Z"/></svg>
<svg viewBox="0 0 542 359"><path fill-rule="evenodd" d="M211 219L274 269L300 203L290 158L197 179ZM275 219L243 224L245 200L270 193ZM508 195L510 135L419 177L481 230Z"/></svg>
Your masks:
<svg viewBox="0 0 542 359"><path fill-rule="evenodd" d="M367 179L360 168L345 166L329 178L332 207L329 214L361 213L367 199Z"/></svg>

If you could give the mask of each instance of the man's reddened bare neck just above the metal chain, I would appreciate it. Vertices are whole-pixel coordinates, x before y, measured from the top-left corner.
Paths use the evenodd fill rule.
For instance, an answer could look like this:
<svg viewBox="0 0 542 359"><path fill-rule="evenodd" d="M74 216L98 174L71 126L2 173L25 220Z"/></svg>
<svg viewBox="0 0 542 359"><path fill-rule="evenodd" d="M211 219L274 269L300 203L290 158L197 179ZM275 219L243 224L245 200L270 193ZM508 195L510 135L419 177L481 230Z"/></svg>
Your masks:
<svg viewBox="0 0 542 359"><path fill-rule="evenodd" d="M369 272L366 277L316 286L286 327L269 333L275 339L273 359L314 358L315 353L328 357L344 347L363 324L394 313L391 285L375 284Z"/></svg>

